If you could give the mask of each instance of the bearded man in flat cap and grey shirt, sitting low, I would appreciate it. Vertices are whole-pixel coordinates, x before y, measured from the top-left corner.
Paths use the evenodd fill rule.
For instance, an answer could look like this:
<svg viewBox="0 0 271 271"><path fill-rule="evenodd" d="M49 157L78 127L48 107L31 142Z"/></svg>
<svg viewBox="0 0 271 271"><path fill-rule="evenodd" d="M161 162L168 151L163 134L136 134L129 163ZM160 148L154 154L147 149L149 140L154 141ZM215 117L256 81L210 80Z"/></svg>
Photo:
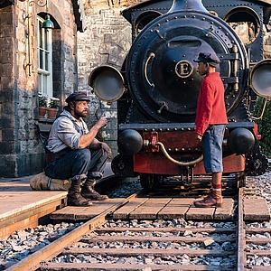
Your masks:
<svg viewBox="0 0 271 271"><path fill-rule="evenodd" d="M89 130L82 119L89 114L87 95L74 92L66 102L68 106L51 126L47 149L54 158L46 164L44 171L51 178L70 179L69 205L89 206L92 204L89 200L108 199L94 190L96 180L103 175L107 158L112 155L109 146L95 138L99 129L107 126L107 119L101 117Z"/></svg>

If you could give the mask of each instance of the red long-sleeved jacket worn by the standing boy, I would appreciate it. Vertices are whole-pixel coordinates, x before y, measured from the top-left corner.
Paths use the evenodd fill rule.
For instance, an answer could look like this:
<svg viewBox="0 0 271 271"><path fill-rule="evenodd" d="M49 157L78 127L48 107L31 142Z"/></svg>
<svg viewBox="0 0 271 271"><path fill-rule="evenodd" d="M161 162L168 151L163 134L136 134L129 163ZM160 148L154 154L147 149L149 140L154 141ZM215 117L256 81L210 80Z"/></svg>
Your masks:
<svg viewBox="0 0 271 271"><path fill-rule="evenodd" d="M224 85L219 72L210 72L201 82L195 120L196 133L203 135L209 125L227 123Z"/></svg>

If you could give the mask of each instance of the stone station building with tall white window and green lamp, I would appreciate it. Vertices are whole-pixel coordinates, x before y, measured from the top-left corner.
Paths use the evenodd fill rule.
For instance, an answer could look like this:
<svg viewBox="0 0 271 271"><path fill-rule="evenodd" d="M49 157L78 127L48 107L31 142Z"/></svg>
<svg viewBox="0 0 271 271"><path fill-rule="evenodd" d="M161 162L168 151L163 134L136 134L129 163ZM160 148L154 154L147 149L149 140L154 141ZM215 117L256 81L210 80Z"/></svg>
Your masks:
<svg viewBox="0 0 271 271"><path fill-rule="evenodd" d="M37 127L53 119L39 117L38 93L62 107L77 89L77 33L85 27L81 1L0 1L0 177L42 172Z"/></svg>

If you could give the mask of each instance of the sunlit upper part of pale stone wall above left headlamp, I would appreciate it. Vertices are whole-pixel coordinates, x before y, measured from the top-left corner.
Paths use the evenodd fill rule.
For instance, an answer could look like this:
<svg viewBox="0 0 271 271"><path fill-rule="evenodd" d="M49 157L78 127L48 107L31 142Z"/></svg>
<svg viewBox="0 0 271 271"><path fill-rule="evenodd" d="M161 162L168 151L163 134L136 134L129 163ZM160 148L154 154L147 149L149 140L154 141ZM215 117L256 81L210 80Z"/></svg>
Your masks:
<svg viewBox="0 0 271 271"><path fill-rule="evenodd" d="M143 0L85 1L88 29L78 35L79 89L88 87L89 73L101 64L120 69L131 46L131 26L120 15Z"/></svg>

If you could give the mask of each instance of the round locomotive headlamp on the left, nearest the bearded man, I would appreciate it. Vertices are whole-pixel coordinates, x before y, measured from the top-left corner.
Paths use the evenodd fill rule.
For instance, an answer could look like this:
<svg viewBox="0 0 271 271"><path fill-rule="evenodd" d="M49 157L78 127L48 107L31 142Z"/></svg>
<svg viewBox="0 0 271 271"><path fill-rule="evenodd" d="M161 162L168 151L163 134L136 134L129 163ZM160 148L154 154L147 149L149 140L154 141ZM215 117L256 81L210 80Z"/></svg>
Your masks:
<svg viewBox="0 0 271 271"><path fill-rule="evenodd" d="M89 75L89 86L93 88L95 95L107 104L111 104L123 95L124 79L121 73L110 66L101 66Z"/></svg>

